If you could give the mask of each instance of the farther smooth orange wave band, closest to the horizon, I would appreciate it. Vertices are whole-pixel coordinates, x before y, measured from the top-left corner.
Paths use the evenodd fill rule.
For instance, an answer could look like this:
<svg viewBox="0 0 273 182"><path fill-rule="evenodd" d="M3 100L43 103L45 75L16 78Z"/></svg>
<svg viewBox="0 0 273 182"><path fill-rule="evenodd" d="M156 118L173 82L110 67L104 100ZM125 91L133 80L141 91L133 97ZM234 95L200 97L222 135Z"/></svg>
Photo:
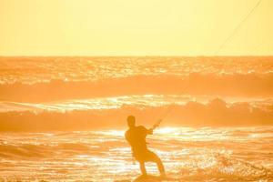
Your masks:
<svg viewBox="0 0 273 182"><path fill-rule="evenodd" d="M147 93L273 96L273 73L220 76L191 73L188 76L128 76L97 81L51 80L49 83L32 85L22 83L0 85L0 99L17 102L45 102Z"/></svg>

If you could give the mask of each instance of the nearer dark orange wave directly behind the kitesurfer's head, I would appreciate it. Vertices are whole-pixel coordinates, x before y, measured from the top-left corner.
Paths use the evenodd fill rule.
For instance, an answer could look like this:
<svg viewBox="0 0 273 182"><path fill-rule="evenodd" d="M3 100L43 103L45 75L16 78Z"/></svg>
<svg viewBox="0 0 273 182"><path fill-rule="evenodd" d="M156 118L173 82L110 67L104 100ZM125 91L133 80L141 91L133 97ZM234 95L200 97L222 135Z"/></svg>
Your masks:
<svg viewBox="0 0 273 182"><path fill-rule="evenodd" d="M117 102L117 101L115 101ZM137 101L136 101L137 103ZM68 105L69 106L69 105ZM134 115L140 123L153 125L167 116L170 126L257 126L272 125L272 103L251 106L248 102L227 103L219 98L206 104L187 101L183 105L121 105L104 109L18 110L0 113L1 131L86 130L121 127L126 116ZM48 106L50 108L50 106ZM62 106L64 108L66 106ZM76 106L78 107L78 106ZM84 107L85 108L85 107ZM60 112L61 111L61 112Z"/></svg>

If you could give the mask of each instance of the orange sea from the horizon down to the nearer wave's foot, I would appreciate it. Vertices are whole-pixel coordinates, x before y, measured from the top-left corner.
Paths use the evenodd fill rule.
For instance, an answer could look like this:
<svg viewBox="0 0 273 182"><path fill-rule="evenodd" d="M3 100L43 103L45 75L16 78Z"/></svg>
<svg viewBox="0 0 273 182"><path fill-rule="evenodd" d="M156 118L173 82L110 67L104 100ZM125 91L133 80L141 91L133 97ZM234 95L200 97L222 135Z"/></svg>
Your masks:
<svg viewBox="0 0 273 182"><path fill-rule="evenodd" d="M0 57L0 83L1 131L152 125L167 110L171 126L273 120L270 56Z"/></svg>

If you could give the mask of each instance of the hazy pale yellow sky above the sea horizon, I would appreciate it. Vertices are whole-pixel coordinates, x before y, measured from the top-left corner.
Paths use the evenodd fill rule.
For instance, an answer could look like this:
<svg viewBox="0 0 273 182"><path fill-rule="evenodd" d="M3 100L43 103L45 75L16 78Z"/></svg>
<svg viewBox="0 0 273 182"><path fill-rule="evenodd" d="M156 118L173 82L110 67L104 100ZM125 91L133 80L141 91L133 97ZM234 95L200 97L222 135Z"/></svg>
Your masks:
<svg viewBox="0 0 273 182"><path fill-rule="evenodd" d="M209 56L258 0L0 0L0 56ZM262 0L218 55L273 55Z"/></svg>

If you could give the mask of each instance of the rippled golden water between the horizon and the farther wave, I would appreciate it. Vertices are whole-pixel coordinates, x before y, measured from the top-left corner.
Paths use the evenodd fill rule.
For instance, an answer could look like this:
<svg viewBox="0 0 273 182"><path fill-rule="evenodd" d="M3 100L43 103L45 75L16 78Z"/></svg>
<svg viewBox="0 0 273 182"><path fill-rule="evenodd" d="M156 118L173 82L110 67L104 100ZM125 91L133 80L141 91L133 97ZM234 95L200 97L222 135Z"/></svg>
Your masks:
<svg viewBox="0 0 273 182"><path fill-rule="evenodd" d="M55 79L103 80L130 76L273 74L271 56L261 57L0 57L0 83L34 84Z"/></svg>

